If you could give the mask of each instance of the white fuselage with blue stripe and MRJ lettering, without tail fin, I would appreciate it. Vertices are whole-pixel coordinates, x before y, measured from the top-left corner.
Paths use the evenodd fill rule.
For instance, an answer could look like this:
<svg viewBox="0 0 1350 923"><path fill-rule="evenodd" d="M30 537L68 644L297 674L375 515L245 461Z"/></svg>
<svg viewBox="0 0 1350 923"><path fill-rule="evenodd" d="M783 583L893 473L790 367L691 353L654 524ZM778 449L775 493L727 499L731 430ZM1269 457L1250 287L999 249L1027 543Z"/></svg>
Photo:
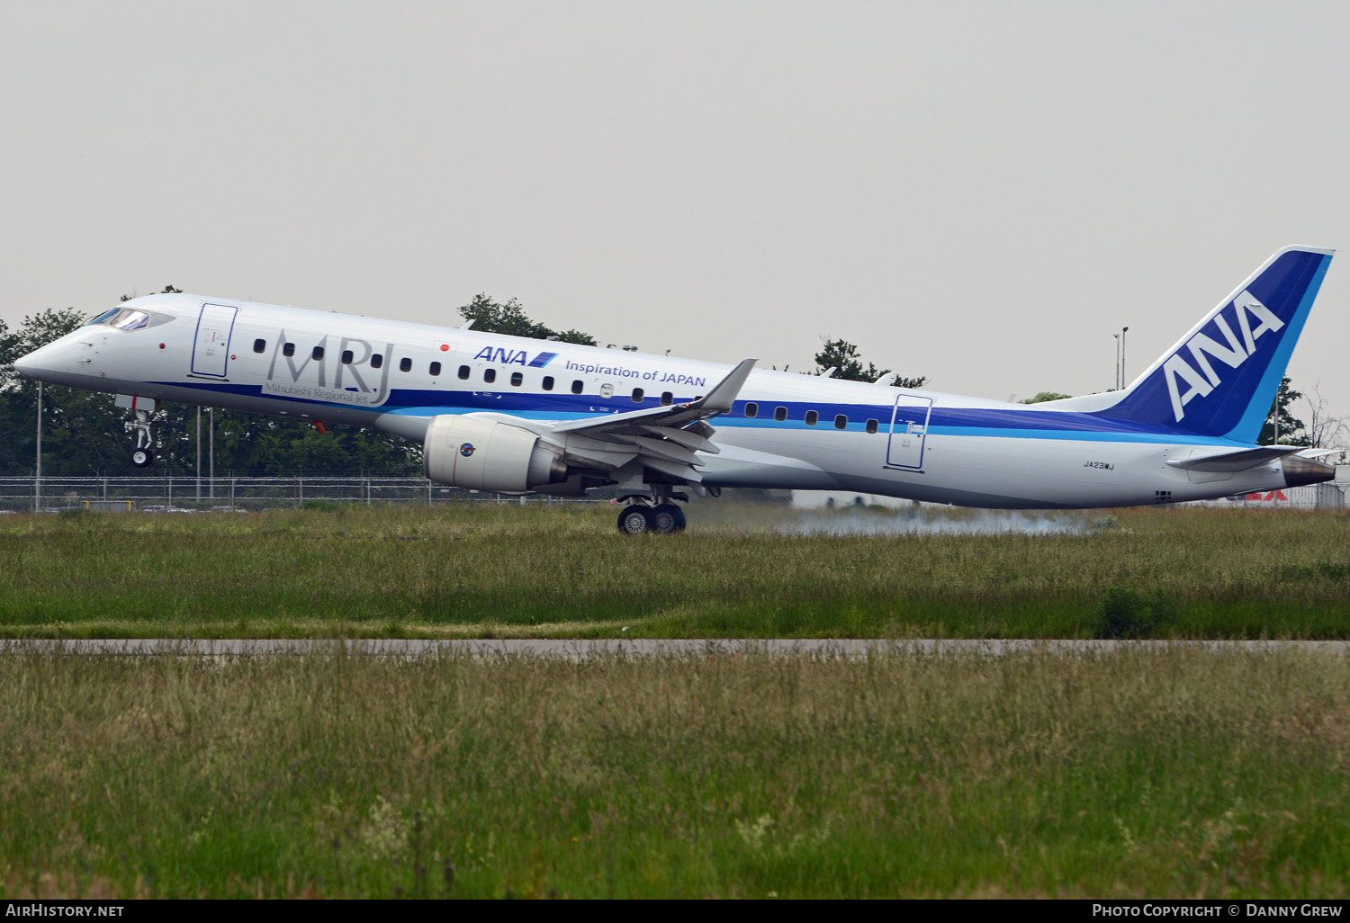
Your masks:
<svg viewBox="0 0 1350 923"><path fill-rule="evenodd" d="M443 414L562 422L683 403L730 366L188 294L147 296L18 364L43 381L371 426L421 440ZM124 329L130 328L130 329ZM848 490L984 507L1099 507L1285 487L1249 447L1057 406L755 370L713 420L706 487Z"/></svg>

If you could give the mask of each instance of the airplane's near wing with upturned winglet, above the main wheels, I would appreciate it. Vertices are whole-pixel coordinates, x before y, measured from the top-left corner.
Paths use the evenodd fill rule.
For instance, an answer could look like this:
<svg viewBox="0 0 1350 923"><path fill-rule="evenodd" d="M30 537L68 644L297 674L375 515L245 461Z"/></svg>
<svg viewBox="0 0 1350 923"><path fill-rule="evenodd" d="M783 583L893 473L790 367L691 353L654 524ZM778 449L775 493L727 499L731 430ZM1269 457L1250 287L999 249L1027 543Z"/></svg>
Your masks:
<svg viewBox="0 0 1350 923"><path fill-rule="evenodd" d="M702 463L694 453L721 451L710 439L716 430L705 421L732 409L755 362L742 359L697 401L570 420L549 426L543 436L562 447L571 464L613 470L640 459L676 480L698 483L702 475L697 466Z"/></svg>

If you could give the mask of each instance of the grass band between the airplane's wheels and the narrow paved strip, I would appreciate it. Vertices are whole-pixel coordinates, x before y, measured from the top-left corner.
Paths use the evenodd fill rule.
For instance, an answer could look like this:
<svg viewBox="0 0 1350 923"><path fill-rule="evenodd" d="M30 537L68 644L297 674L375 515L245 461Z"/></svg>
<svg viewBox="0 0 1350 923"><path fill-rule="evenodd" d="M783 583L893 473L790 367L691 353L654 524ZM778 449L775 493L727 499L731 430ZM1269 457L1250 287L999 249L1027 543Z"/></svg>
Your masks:
<svg viewBox="0 0 1350 923"><path fill-rule="evenodd" d="M914 517L927 532L886 534ZM934 533L988 517L1023 532ZM566 503L5 515L0 636L1092 637L1106 607L1133 636L1350 637L1345 511L702 503L687 533L637 540L613 518Z"/></svg>

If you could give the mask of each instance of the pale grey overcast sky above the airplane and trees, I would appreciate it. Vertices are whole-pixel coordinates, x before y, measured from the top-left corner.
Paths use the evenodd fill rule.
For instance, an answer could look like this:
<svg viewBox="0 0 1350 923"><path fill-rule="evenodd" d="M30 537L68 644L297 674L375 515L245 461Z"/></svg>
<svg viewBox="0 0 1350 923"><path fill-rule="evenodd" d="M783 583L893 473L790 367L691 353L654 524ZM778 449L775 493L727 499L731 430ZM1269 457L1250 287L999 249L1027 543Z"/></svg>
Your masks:
<svg viewBox="0 0 1350 923"><path fill-rule="evenodd" d="M188 291L944 391L1133 374L1285 244L1350 414L1346 3L0 0L0 317Z"/></svg>

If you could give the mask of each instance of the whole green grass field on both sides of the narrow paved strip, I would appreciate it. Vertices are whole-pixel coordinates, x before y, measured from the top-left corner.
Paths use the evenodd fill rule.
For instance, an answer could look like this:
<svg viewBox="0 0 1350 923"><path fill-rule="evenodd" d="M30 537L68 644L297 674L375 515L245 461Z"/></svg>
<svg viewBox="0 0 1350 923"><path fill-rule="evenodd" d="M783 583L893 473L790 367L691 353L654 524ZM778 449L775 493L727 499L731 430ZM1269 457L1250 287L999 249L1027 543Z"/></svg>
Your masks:
<svg viewBox="0 0 1350 923"><path fill-rule="evenodd" d="M0 633L1350 637L1343 513L694 513L5 515ZM16 653L0 690L0 897L1347 892L1332 656Z"/></svg>

